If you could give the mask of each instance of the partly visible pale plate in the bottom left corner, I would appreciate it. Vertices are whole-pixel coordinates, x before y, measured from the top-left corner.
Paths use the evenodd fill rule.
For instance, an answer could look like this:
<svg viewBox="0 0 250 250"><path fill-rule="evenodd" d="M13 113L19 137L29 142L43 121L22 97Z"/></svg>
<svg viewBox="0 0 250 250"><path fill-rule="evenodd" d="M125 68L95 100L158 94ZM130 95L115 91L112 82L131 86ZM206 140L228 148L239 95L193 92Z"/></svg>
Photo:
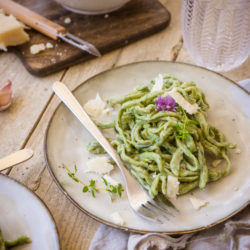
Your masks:
<svg viewBox="0 0 250 250"><path fill-rule="evenodd" d="M0 174L0 227L5 240L27 235L32 243L19 250L60 249L55 222L44 203L28 188Z"/></svg>

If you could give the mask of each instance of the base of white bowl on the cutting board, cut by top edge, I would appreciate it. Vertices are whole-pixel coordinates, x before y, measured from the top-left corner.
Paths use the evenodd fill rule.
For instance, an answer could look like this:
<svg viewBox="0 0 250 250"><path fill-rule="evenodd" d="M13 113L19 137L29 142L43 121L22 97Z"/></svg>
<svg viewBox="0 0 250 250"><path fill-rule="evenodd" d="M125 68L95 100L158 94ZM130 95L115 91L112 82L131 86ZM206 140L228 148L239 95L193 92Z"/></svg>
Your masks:
<svg viewBox="0 0 250 250"><path fill-rule="evenodd" d="M64 8L87 15L109 13L121 8L130 0L56 0Z"/></svg>

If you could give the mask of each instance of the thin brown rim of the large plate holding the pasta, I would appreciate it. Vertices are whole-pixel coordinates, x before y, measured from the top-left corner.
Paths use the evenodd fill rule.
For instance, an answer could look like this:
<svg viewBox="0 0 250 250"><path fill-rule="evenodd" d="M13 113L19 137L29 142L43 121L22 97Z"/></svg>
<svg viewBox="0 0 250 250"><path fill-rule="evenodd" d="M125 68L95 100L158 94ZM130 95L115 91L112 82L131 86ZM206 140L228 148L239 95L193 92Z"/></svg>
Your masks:
<svg viewBox="0 0 250 250"><path fill-rule="evenodd" d="M237 86L239 89L243 90L246 94L250 95L250 93L245 90L244 88L242 88L239 84L237 84L236 82L234 82L233 80L221 75L220 73L218 72L215 72L215 71L212 71L212 70L209 70L209 69L206 69L204 67L201 67L201 66L197 66L197 65L194 65L194 64L190 64L190 63L184 63L184 62L171 62L171 61L165 61L165 60L159 60L159 61L155 61L155 60L148 60L148 61L138 61L138 62L133 62L133 63L129 63L129 64L124 64L124 65L121 65L121 66L118 66L118 67L115 67L115 68L112 68L112 69L108 69L108 70L105 70L105 71L102 71L88 79L86 79L84 82L82 82L81 84L79 84L74 90L72 90L72 92L74 93L75 91L77 91L78 88L82 87L82 85L84 85L85 83L87 83L89 80L91 79L94 79L96 77L99 77L100 75L102 74L105 74L105 73L108 73L110 71L113 71L113 70L116 70L116 69L120 69L120 68L123 68L123 67L127 67L127 66L132 66L132 65L136 65L136 64L141 64L141 63L154 63L154 62L157 62L157 63L166 63L166 64L181 64L181 65L187 65L189 67L194 67L194 68L201 68L203 70L206 70L206 71L209 71L211 73L214 73L224 79L226 79L228 82L230 82L231 84ZM204 226L204 227L199 227L199 228L194 228L192 230L184 230L184 231L173 231L173 232L155 232L155 231L144 231L144 230L138 230L138 229L133 229L133 228L129 228L129 227L126 227L126 226L119 226L119 225L116 225L116 224L113 224L109 221L106 221L106 220L103 220L101 218L99 218L98 216L95 216L94 214L88 212L87 210L85 210L82 206L80 206L66 191L65 189L61 186L60 182L57 180L56 176L54 175L54 172L52 170L52 168L50 167L50 164L49 164L49 159L48 159L48 156L47 156L47 136L48 136L48 131L49 131L49 128L50 128L50 125L51 125L51 122L57 112L57 110L59 109L59 107L63 105L62 102L60 102L58 104L58 106L56 107L55 111L52 113L51 115L51 118L48 122L48 125L47 125L47 128L46 128L46 131L45 131L45 137L44 137L44 158L45 158L45 162L46 162L46 166L48 168L48 171L50 173L50 175L52 176L53 180L55 181L56 185L58 186L58 188L61 190L61 192L67 197L67 199L69 199L78 209L80 209L82 212L84 212L86 215L90 216L91 218L93 218L94 220L100 222L100 223L103 223L107 226L111 226L113 228L117 228L117 229L120 229L120 230L123 230L123 231L129 231L129 232L132 232L132 233L139 233L139 234L147 234L147 233L159 233L159 234L165 234L165 235L179 235L179 234L188 234L188 233L193 233L193 232L198 232L198 231L202 231L202 230L206 230L206 229L209 229L211 227L214 227L226 220L228 220L229 218L233 217L234 215L238 214L239 212L241 212L242 210L244 210L248 205L250 205L250 201L247 201L245 204L243 204L241 207L239 207L237 210L235 210L234 212L230 213L228 216L224 217L224 218L221 218L220 220L217 220L215 221L214 223L211 223L207 226Z"/></svg>

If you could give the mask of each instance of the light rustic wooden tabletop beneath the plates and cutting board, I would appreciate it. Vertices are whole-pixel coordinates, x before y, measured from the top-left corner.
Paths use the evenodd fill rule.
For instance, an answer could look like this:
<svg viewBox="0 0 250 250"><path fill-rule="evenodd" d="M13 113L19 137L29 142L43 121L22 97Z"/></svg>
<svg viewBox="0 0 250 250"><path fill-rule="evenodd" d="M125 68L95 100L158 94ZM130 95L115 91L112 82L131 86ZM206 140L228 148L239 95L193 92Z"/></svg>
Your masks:
<svg viewBox="0 0 250 250"><path fill-rule="evenodd" d="M113 67L144 60L191 62L183 45L180 24L181 0L161 0L170 11L170 25L160 33L78 64L44 78L30 75L11 53L0 53L0 75L14 85L11 107L0 113L0 157L22 148L32 148L34 156L6 174L33 190L48 206L59 231L62 249L88 249L99 223L78 210L53 182L44 161L43 140L51 114L59 101L52 83L63 81L74 89L89 77ZM192 63L192 62L191 62ZM250 77L250 60L231 72L234 81Z"/></svg>

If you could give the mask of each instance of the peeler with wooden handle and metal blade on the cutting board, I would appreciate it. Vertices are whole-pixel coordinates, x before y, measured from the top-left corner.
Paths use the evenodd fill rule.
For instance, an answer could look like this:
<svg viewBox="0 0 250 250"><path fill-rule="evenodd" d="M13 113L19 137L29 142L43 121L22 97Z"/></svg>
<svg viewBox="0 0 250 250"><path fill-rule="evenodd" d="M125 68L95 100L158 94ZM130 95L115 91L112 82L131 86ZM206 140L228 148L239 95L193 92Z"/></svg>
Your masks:
<svg viewBox="0 0 250 250"><path fill-rule="evenodd" d="M51 20L37 14L24 6L11 0L0 0L0 8L6 13L14 15L17 19L41 32L42 34L57 40L61 38L63 41L87 51L94 56L101 56L99 50L91 43L86 42L79 37L67 32L66 28L52 22Z"/></svg>

